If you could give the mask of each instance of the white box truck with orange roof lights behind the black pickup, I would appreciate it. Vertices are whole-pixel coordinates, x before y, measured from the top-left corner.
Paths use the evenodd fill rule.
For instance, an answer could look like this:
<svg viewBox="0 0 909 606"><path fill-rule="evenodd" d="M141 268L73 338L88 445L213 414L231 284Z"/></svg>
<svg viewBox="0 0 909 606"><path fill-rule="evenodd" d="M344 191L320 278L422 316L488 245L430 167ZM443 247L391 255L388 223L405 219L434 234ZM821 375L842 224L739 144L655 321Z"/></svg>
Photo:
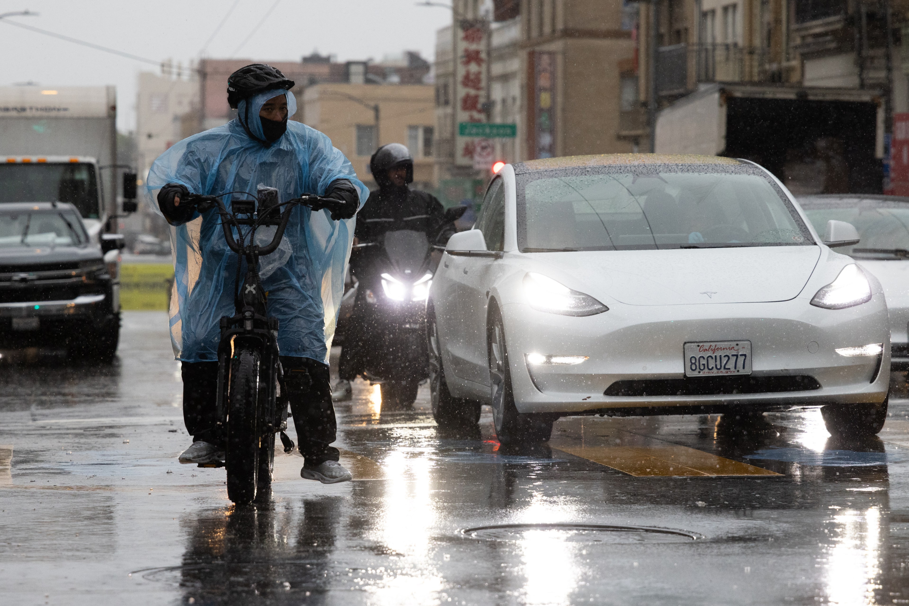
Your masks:
<svg viewBox="0 0 909 606"><path fill-rule="evenodd" d="M0 86L0 204L74 204L97 241L116 230L115 164L114 86Z"/></svg>

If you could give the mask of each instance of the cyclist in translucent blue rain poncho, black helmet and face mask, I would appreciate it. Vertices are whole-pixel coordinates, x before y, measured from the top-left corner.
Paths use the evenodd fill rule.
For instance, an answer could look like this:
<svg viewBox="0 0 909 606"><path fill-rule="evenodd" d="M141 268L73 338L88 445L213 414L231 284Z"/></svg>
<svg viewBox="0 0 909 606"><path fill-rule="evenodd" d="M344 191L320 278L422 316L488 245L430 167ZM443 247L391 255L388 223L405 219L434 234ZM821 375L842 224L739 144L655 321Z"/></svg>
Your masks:
<svg viewBox="0 0 909 606"><path fill-rule="evenodd" d="M194 443L180 462L224 457L217 429L219 321L234 314L238 256L227 247L216 211L199 214L180 204L188 194L277 188L282 201L319 194L340 204L310 210L295 206L275 253L260 260L268 313L278 318L278 346L301 454L301 475L324 483L351 475L338 463L335 411L329 387L328 351L344 292L354 235L353 216L369 191L345 155L325 134L288 121L296 112L294 82L269 65L247 65L227 81L231 122L195 134L155 160L146 187L172 225L175 285L171 340L182 362L184 420ZM247 198L234 194L238 198ZM230 206L234 195L222 200ZM263 233L270 241L272 234ZM259 234L256 235L259 239Z"/></svg>

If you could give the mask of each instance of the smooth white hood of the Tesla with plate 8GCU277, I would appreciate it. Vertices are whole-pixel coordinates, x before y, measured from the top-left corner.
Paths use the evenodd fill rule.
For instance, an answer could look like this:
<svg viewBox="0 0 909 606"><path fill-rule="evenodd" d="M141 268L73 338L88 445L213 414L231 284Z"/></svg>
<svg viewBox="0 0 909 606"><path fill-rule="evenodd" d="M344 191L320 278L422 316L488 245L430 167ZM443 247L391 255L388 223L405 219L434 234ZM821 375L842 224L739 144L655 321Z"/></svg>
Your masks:
<svg viewBox="0 0 909 606"><path fill-rule="evenodd" d="M688 305L788 301L802 292L820 254L819 246L754 246L559 253L558 261L546 261L580 281L566 286L594 297L629 305ZM551 277L559 279L557 273Z"/></svg>

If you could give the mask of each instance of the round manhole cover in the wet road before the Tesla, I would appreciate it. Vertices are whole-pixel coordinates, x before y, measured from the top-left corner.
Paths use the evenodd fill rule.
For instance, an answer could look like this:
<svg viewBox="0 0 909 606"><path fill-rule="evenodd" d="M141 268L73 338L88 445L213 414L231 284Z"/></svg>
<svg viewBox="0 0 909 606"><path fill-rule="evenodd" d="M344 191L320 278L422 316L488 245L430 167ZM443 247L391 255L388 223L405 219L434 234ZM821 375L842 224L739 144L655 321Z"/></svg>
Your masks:
<svg viewBox="0 0 909 606"><path fill-rule="evenodd" d="M486 541L528 541L553 537L562 541L598 543L684 542L703 539L696 532L652 526L620 526L616 524L495 524L474 526L461 531L471 539Z"/></svg>

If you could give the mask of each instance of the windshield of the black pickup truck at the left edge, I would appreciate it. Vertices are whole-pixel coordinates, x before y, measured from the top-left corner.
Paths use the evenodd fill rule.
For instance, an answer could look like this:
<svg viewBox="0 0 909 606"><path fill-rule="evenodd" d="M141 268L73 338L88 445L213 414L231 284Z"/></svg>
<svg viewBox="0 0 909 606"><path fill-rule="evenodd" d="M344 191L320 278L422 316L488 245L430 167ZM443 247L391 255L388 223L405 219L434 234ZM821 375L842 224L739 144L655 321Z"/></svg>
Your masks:
<svg viewBox="0 0 909 606"><path fill-rule="evenodd" d="M87 241L82 222L72 212L0 213L0 248L81 246Z"/></svg>

